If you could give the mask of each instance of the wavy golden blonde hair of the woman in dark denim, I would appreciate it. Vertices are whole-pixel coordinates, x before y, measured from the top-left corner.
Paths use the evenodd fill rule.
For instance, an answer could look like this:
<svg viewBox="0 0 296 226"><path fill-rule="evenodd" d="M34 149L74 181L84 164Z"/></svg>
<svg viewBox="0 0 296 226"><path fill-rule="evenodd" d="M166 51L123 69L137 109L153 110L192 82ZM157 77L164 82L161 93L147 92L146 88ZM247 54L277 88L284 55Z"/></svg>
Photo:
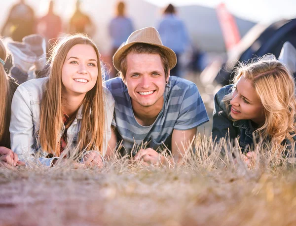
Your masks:
<svg viewBox="0 0 296 226"><path fill-rule="evenodd" d="M292 141L296 134L296 94L292 73L274 55L267 54L253 59L251 63L241 63L233 84L241 76L251 80L264 107L265 122L255 135L264 139L270 136L271 141L279 145L284 139ZM223 98L227 111L232 92Z"/></svg>

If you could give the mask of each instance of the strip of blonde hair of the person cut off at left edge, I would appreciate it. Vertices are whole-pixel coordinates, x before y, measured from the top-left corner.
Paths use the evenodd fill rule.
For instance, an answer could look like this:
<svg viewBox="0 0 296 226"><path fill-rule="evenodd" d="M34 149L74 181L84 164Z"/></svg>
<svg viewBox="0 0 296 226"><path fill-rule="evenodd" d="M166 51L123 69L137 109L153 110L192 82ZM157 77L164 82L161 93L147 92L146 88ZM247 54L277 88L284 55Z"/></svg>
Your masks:
<svg viewBox="0 0 296 226"><path fill-rule="evenodd" d="M3 61L6 61L7 51L5 45L0 38L0 58ZM9 81L7 79L7 75L4 70L4 65L0 63L0 140L2 139L5 131L8 128L5 128L5 121L7 117L7 108L8 108L8 92L9 92ZM9 120L9 119L8 119Z"/></svg>

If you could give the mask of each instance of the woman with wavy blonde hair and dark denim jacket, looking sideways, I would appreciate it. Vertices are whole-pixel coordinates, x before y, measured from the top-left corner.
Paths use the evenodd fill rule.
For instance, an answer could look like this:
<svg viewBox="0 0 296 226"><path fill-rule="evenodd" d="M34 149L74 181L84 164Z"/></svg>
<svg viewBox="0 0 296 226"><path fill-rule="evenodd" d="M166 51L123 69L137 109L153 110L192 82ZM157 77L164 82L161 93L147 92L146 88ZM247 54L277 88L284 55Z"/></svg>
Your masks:
<svg viewBox="0 0 296 226"><path fill-rule="evenodd" d="M294 143L294 78L273 55L241 65L233 84L215 95L214 105L213 140L239 137L242 151L252 149L253 134L256 141L263 139L281 146Z"/></svg>

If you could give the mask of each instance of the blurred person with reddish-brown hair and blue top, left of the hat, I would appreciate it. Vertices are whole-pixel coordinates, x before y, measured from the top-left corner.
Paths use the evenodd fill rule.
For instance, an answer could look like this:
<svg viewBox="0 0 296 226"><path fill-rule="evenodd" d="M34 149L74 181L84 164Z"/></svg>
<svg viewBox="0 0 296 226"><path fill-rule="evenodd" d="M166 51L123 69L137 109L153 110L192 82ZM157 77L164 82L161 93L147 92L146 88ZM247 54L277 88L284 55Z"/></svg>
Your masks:
<svg viewBox="0 0 296 226"><path fill-rule="evenodd" d="M134 27L132 20L125 15L125 3L123 1L119 1L116 5L116 16L109 24L109 35L112 41L111 56L115 54L119 46L126 41L133 31ZM112 77L115 77L118 73L113 65L111 73Z"/></svg>

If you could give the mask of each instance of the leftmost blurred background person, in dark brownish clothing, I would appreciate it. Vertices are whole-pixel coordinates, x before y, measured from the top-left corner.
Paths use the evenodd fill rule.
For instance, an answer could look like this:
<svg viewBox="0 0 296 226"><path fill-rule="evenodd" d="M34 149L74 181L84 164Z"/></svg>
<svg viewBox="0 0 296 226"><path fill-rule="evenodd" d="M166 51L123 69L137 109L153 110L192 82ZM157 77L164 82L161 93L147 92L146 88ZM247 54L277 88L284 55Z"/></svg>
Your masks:
<svg viewBox="0 0 296 226"><path fill-rule="evenodd" d="M1 35L11 37L14 41L22 41L25 36L35 33L35 23L34 10L25 0L20 0L11 7Z"/></svg>

